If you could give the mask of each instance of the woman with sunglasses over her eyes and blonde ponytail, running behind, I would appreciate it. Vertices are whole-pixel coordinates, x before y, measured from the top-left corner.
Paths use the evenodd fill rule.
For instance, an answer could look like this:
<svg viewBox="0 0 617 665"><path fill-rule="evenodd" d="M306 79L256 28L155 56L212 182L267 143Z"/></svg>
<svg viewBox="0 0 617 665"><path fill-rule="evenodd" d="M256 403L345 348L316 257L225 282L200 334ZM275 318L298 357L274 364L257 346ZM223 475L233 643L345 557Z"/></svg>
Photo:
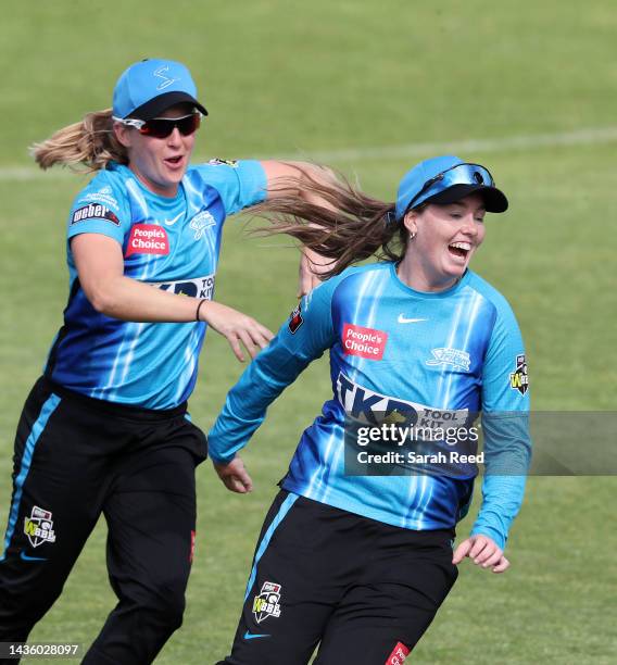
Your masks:
<svg viewBox="0 0 617 665"><path fill-rule="evenodd" d="M317 171L189 165L206 113L186 66L146 60L122 74L113 109L34 149L43 168L85 164L98 173L68 213L64 325L17 427L0 642L26 640L101 513L118 603L84 662L150 663L181 624L194 468L206 456L187 400L205 329L224 335L239 360L241 344L254 355L272 337L212 300L223 224L266 198L302 197L303 174ZM280 177L294 189L267 193Z"/></svg>

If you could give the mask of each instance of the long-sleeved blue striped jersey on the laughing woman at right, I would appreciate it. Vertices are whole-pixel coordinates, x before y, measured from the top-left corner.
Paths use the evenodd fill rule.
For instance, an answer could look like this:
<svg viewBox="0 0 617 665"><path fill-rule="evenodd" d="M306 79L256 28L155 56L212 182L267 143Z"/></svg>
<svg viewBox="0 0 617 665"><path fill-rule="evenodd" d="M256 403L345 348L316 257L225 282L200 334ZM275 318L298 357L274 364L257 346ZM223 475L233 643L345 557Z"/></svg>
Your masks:
<svg viewBox="0 0 617 665"><path fill-rule="evenodd" d="M470 271L451 289L426 293L401 281L393 263L348 268L301 301L227 396L209 437L212 459L230 461L268 404L327 349L332 399L303 432L285 489L399 527L453 527L468 509L475 467L458 475L345 474L345 413L368 416L392 403L438 421L446 412L500 414L484 428L487 467L508 450L527 468L527 365L509 305ZM487 475L474 531L503 547L524 484L524 475Z"/></svg>

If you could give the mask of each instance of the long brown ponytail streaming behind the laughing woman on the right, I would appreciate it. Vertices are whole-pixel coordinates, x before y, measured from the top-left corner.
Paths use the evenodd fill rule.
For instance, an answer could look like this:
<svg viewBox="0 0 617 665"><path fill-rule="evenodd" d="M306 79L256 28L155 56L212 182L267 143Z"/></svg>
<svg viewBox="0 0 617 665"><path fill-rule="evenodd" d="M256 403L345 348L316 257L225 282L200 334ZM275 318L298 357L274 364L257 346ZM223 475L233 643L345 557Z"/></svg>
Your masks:
<svg viewBox="0 0 617 665"><path fill-rule="evenodd" d="M323 273L326 279L374 254L388 261L405 254L408 233L394 221L394 203L366 196L343 176L313 167L312 173L303 170L299 179L277 179L270 191L286 193L251 209L269 222L253 233L286 234L330 259L331 268Z"/></svg>

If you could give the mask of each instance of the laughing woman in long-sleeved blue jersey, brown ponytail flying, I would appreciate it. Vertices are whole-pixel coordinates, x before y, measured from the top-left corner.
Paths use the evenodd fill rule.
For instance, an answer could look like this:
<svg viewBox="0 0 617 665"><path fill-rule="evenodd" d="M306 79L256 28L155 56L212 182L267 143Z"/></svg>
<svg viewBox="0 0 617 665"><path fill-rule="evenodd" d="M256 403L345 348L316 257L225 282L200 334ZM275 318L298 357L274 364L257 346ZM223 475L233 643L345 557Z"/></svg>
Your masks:
<svg viewBox="0 0 617 665"><path fill-rule="evenodd" d="M289 197L263 210L278 214L278 230L330 258L331 276L247 368L210 432L225 485L250 490L238 451L268 404L329 350L333 394L304 430L266 516L224 661L232 665L303 665L317 644L319 665L402 663L465 556L494 573L508 567L503 551L525 487L521 336L505 299L468 269L484 214L507 209L491 174L448 155L412 168L395 204L343 183L316 183L315 192L328 210ZM387 261L343 269L379 248ZM483 502L453 553L477 466L456 447L442 463L450 441L431 441L426 429L448 431L479 412ZM370 452L353 440L358 423L421 425L421 449L433 454L395 457L417 453L417 442L388 450L385 438Z"/></svg>

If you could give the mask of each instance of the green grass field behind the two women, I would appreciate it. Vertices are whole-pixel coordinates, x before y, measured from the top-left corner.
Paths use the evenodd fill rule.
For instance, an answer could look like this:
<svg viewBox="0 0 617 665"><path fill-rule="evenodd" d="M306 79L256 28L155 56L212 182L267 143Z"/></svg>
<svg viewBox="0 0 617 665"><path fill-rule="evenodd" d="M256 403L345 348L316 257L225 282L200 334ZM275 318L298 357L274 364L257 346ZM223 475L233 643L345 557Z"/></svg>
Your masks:
<svg viewBox="0 0 617 665"><path fill-rule="evenodd" d="M616 410L612 0L65 0L5 5L2 28L0 528L14 427L66 299L64 219L85 183L37 173L27 147L111 105L117 75L148 55L193 71L211 112L197 148L204 160L325 160L387 200L436 152L486 163L511 210L488 219L474 267L517 313L534 409ZM294 304L297 263L293 249L247 238L231 219L217 298L276 328ZM240 371L210 335L191 401L204 429ZM275 482L328 384L322 361L273 406L245 454L251 495L232 495L210 463L200 467L188 610L158 663L210 664L226 653ZM512 568L492 576L464 563L412 662L617 662L616 490L615 477L531 478L508 543ZM115 602L104 539L100 524L33 641L95 638Z"/></svg>

